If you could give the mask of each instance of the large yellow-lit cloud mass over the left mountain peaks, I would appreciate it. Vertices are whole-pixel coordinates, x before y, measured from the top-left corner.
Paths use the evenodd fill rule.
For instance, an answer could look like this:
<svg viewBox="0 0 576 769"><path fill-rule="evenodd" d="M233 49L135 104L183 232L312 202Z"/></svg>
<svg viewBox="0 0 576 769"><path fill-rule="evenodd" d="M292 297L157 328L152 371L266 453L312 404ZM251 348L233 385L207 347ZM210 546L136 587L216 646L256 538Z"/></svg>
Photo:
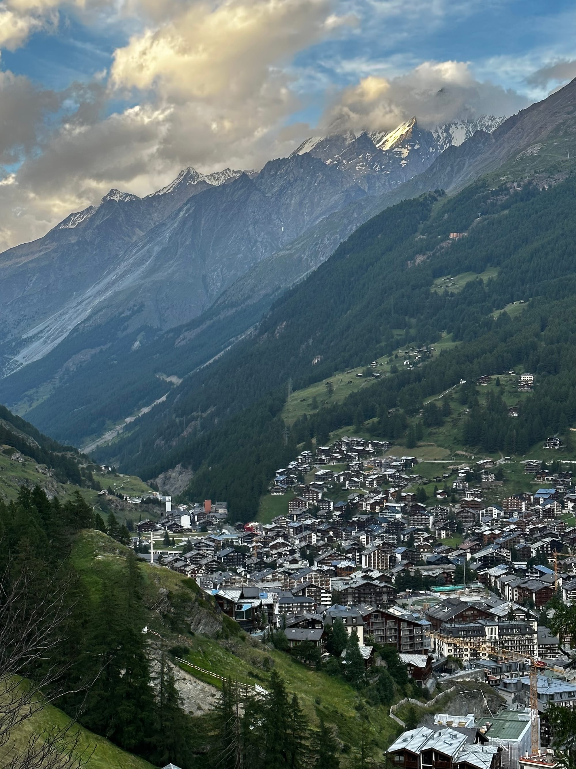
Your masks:
<svg viewBox="0 0 576 769"><path fill-rule="evenodd" d="M34 5L15 2L22 12ZM42 134L34 116L29 123L36 130L19 136L24 105L9 111L14 129L0 136L0 159L4 139L5 162L11 147L25 144L28 151L15 177L6 175L0 185L0 246L43 234L111 187L145 195L184 165L251 168L290 151L307 130L282 130L299 106L286 65L302 48L354 23L334 15L332 0L144 6L140 0L138 12L151 26L118 49L108 81L100 73L88 86L51 95L68 113L51 133ZM156 26L154 14L161 19ZM19 85L31 87L25 78ZM0 95L2 88L0 77ZM111 98L128 91L137 106L102 117ZM47 100L36 94L39 113ZM0 99L0 119L2 108Z"/></svg>

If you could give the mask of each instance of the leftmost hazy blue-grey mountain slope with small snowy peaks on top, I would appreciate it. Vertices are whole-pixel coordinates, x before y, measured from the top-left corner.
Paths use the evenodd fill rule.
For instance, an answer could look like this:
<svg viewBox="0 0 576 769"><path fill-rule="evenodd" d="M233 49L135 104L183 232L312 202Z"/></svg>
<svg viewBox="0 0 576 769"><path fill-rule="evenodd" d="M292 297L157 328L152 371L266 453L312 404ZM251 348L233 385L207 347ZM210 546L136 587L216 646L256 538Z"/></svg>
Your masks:
<svg viewBox="0 0 576 769"><path fill-rule="evenodd" d="M98 207L66 217L43 238L0 255L0 361L11 371L45 355L114 283L121 255L150 228L200 192L240 175L181 171L146 198L111 190Z"/></svg>

